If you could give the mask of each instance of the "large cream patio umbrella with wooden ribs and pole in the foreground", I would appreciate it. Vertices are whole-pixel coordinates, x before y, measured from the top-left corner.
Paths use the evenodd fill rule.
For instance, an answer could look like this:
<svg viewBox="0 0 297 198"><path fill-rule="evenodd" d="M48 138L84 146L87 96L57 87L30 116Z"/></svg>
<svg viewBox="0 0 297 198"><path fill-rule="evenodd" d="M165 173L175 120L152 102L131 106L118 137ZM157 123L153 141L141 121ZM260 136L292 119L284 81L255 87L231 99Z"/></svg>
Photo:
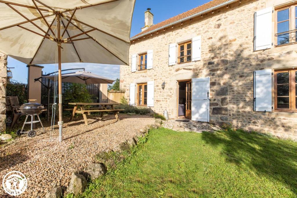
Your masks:
<svg viewBox="0 0 297 198"><path fill-rule="evenodd" d="M128 65L135 0L0 0L0 51L28 65L58 64L62 141L61 63Z"/></svg>

